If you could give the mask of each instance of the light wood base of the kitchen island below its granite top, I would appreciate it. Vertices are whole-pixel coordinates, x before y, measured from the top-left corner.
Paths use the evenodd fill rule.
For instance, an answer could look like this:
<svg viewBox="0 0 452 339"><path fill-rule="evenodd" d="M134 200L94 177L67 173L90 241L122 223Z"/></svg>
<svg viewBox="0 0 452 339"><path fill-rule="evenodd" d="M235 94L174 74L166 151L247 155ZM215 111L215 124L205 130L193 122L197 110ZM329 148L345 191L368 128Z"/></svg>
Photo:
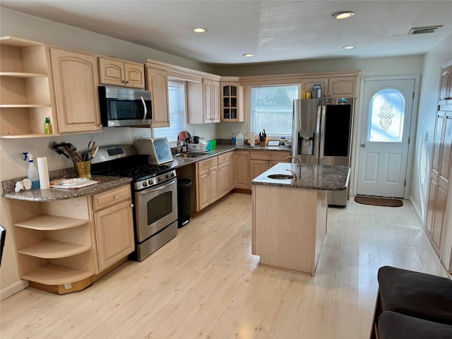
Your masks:
<svg viewBox="0 0 452 339"><path fill-rule="evenodd" d="M314 275L326 237L328 192L252 186L252 254L261 265Z"/></svg>

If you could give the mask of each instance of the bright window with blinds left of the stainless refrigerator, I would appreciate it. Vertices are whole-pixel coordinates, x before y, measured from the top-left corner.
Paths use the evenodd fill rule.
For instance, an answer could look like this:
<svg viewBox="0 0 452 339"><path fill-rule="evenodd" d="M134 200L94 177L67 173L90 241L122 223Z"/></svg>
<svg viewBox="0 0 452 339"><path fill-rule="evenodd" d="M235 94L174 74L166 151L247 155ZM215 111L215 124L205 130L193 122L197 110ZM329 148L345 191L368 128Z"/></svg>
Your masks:
<svg viewBox="0 0 452 339"><path fill-rule="evenodd" d="M265 129L269 136L291 136L295 99L298 85L251 88L251 129L256 133Z"/></svg>

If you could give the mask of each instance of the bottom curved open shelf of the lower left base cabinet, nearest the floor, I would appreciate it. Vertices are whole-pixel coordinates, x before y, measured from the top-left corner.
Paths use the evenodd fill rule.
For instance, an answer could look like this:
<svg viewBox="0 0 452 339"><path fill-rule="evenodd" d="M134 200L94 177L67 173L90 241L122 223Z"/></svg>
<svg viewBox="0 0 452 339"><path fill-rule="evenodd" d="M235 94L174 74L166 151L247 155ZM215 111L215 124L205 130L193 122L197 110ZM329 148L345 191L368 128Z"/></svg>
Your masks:
<svg viewBox="0 0 452 339"><path fill-rule="evenodd" d="M21 278L44 285L64 285L90 278L92 275L93 272L47 263L40 268L23 274Z"/></svg>

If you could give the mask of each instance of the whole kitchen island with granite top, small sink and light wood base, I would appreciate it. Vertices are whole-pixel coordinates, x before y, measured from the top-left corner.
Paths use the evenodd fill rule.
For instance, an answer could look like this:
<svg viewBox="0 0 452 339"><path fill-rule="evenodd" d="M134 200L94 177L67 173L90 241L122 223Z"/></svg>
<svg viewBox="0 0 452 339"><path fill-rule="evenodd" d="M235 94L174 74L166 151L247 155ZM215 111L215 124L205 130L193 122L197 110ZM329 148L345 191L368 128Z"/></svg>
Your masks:
<svg viewBox="0 0 452 339"><path fill-rule="evenodd" d="M298 179L271 179L299 173L298 164L280 162L251 181L251 253L261 265L314 275L326 237L328 191L344 190L346 166L302 165Z"/></svg>

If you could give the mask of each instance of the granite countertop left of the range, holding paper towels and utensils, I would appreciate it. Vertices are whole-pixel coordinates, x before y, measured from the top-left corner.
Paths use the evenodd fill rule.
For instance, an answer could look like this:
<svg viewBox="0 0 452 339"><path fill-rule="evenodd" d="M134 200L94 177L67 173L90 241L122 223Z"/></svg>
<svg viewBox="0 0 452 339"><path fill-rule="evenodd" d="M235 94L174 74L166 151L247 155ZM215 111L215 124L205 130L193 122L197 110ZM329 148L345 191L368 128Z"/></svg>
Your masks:
<svg viewBox="0 0 452 339"><path fill-rule="evenodd" d="M98 183L83 187L81 189L30 189L29 191L20 191L16 193L14 191L14 187L19 179L23 178L6 180L1 183L3 186L4 198L43 202L58 201L79 198L81 196L90 196L103 191L108 191L109 189L114 189L115 187L130 184L132 181L131 178L93 175L91 179L97 181Z"/></svg>

